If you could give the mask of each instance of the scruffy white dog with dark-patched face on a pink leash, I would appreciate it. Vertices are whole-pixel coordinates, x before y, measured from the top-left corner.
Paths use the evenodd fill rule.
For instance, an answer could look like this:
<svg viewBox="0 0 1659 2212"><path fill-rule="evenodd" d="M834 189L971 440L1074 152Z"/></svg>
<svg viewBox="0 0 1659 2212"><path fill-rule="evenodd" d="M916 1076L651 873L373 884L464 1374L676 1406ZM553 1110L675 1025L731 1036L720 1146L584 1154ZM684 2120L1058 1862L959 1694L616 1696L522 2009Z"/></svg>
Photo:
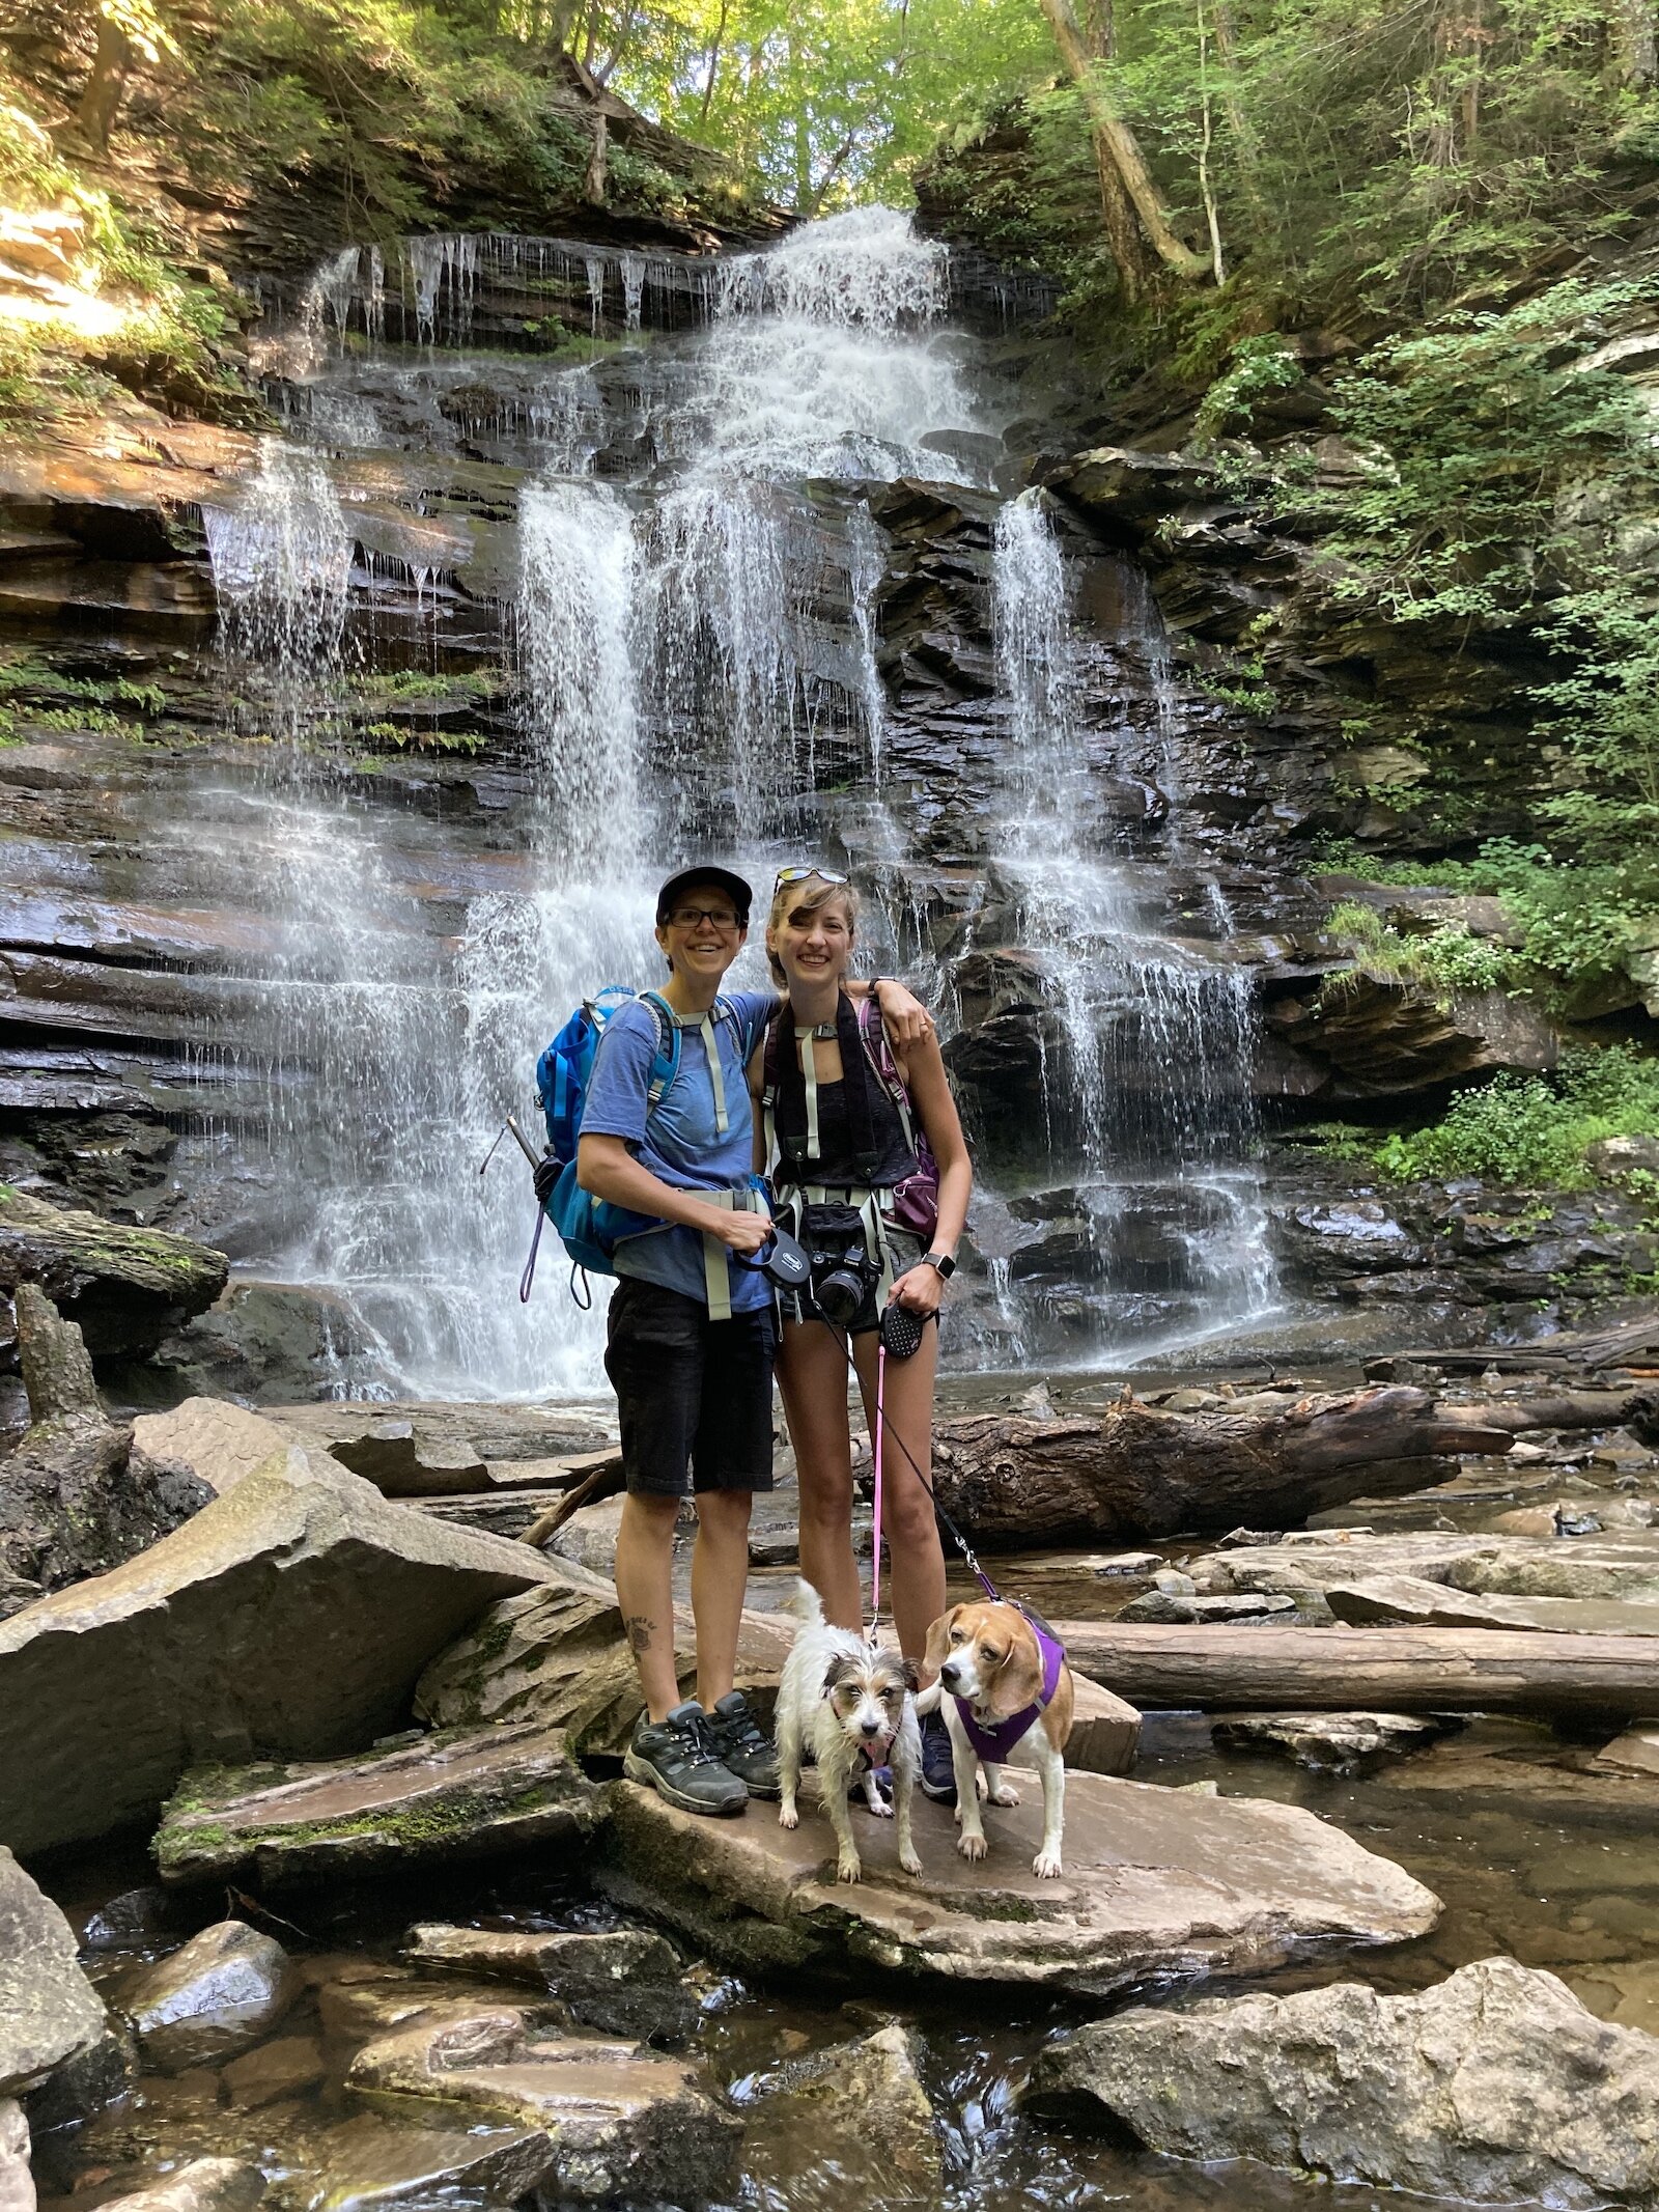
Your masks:
<svg viewBox="0 0 1659 2212"><path fill-rule="evenodd" d="M783 1827L799 1827L801 1747L812 1745L818 1792L836 1832L836 1876L863 1878L858 1845L852 1840L847 1790L863 1778L865 1803L878 1818L898 1814L898 1865L920 1874L911 1840L911 1801L922 1772L922 1734L916 1721L916 1666L898 1652L865 1644L852 1628L832 1628L810 1582L796 1584L794 1608L801 1626L779 1681L776 1739ZM891 1767L894 1803L876 1785L876 1767Z"/></svg>

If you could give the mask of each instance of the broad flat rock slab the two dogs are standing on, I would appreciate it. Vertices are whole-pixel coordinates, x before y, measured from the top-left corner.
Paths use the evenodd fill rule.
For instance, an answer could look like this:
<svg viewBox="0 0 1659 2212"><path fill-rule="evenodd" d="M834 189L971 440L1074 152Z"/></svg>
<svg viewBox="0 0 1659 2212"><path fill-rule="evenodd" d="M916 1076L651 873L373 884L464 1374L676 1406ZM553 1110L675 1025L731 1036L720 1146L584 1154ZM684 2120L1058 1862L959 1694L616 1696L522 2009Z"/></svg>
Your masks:
<svg viewBox="0 0 1659 2212"><path fill-rule="evenodd" d="M1314 1814L1099 1774L1068 1776L1066 1871L1037 1880L1035 1776L1020 1787L1018 1812L987 1812L991 1854L975 1867L956 1851L951 1812L920 1801L920 1880L898 1869L894 1825L854 1814L865 1880L845 1885L812 1805L787 1832L772 1805L706 1820L619 1783L595 1876L737 1969L856 1978L874 1964L1091 1995L1256 1973L1334 1942L1405 1942L1440 1913L1409 1874Z"/></svg>

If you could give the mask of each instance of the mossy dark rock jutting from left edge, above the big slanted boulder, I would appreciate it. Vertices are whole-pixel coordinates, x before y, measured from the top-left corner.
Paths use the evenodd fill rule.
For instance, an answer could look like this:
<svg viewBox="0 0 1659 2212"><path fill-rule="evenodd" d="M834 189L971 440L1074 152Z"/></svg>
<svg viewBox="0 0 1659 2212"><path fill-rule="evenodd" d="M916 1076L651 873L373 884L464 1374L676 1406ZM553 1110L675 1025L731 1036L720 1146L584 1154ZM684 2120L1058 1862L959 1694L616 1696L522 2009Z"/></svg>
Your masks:
<svg viewBox="0 0 1659 2212"><path fill-rule="evenodd" d="M135 1230L0 1183L0 1292L40 1283L93 1358L155 1352L226 1287L230 1261L190 1237Z"/></svg>

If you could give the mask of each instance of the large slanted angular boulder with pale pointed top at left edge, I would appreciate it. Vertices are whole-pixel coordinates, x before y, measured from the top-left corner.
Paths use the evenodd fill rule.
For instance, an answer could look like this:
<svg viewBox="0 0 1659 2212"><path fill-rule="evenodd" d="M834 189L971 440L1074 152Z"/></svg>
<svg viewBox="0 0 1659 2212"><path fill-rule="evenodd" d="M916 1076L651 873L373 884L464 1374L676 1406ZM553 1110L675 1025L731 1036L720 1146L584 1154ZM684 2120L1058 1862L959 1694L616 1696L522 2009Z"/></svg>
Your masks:
<svg viewBox="0 0 1659 2212"><path fill-rule="evenodd" d="M137 1559L0 1624L0 1840L108 1834L188 1765L254 1745L361 1750L469 1619L553 1573L290 1447Z"/></svg>

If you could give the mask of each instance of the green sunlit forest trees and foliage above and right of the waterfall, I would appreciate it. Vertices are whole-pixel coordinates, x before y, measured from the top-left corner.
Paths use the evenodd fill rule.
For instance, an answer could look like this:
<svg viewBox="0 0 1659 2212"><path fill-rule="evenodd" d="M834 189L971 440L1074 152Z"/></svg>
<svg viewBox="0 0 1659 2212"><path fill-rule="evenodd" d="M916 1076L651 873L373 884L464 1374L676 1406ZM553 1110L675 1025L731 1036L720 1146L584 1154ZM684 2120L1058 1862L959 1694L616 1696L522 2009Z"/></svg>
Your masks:
<svg viewBox="0 0 1659 2212"><path fill-rule="evenodd" d="M86 312L24 274L0 427L73 434L115 389L257 427L226 208L279 263L920 204L1057 279L1079 414L1164 420L1301 531L1334 608L1506 661L1509 812L1464 737L1385 703L1345 732L1416 750L1422 790L1325 858L1515 918L1493 949L1343 909L1371 967L1595 1018L1644 960L1659 993L1657 77L1648 0L11 0L0 261L46 239ZM1245 732L1283 661L1272 622L1210 655ZM1610 1128L1659 1133L1617 1042L1394 1168L1571 1181Z"/></svg>

